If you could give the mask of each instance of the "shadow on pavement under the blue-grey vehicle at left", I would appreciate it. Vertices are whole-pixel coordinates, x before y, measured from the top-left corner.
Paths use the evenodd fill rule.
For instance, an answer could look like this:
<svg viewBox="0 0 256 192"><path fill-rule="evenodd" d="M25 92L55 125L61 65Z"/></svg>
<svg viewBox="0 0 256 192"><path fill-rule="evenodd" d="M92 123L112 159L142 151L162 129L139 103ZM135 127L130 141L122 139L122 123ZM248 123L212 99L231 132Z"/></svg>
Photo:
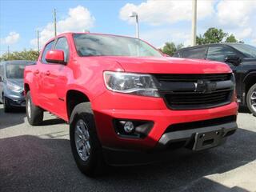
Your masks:
<svg viewBox="0 0 256 192"><path fill-rule="evenodd" d="M25 108L13 109L10 113L5 113L2 104L0 105L0 130L10 126L22 124L26 118Z"/></svg>

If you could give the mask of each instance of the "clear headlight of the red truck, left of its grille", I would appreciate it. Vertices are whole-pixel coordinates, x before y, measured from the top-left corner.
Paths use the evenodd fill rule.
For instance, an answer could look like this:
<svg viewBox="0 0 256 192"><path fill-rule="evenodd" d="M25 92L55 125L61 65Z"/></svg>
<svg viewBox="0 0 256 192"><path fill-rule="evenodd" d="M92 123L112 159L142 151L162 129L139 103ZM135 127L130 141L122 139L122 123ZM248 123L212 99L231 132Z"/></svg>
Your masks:
<svg viewBox="0 0 256 192"><path fill-rule="evenodd" d="M123 94L159 97L158 89L150 74L105 71L103 76L108 90Z"/></svg>

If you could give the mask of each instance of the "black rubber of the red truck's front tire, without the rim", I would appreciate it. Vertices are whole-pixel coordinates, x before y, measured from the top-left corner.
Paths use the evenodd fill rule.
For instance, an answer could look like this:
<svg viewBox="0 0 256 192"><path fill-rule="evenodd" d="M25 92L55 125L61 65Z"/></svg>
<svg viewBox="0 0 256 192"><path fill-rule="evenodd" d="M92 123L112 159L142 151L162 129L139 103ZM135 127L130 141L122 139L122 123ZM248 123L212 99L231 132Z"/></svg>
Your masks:
<svg viewBox="0 0 256 192"><path fill-rule="evenodd" d="M90 154L83 160L78 154L75 144L75 130L78 122L86 123L86 130L89 132ZM82 139L80 140L82 141ZM86 144L82 144L86 145ZM89 102L82 102L74 107L70 117L70 146L78 169L89 177L102 174L106 165L102 156L102 146L98 140L94 114ZM85 147L86 148L86 147Z"/></svg>

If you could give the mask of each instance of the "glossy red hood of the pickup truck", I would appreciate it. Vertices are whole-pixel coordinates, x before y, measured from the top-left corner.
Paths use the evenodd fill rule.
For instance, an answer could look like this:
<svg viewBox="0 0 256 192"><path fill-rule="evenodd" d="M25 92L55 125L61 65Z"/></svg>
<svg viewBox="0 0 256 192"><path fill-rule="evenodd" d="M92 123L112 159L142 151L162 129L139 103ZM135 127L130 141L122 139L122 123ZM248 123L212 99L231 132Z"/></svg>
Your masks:
<svg viewBox="0 0 256 192"><path fill-rule="evenodd" d="M104 57L118 62L126 72L148 74L221 74L230 73L230 66L222 62L170 57Z"/></svg>

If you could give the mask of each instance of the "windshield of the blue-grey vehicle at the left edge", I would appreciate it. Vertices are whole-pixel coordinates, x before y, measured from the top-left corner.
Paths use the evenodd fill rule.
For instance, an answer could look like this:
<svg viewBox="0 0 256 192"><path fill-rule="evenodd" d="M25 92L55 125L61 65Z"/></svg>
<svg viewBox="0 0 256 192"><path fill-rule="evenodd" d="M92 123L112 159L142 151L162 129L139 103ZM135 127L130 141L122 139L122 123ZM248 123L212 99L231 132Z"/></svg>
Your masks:
<svg viewBox="0 0 256 192"><path fill-rule="evenodd" d="M6 78L23 78L25 64L7 64Z"/></svg>

